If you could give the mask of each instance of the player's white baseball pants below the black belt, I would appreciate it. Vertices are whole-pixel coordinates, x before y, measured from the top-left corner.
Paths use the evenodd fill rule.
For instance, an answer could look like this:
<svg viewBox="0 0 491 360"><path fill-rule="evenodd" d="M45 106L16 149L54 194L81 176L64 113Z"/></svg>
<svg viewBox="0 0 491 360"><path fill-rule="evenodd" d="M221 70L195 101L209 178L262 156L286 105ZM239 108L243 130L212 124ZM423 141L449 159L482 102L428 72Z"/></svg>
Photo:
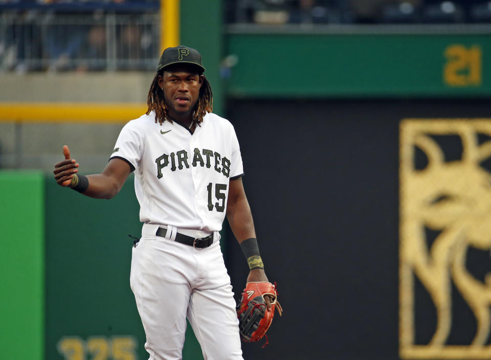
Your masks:
<svg viewBox="0 0 491 360"><path fill-rule="evenodd" d="M172 227L168 238L156 237L157 227L144 224L131 258L130 286L145 329L149 360L182 359L186 318L205 360L242 360L235 300L219 233L215 232L211 246L200 250L173 241L176 229L169 231Z"/></svg>

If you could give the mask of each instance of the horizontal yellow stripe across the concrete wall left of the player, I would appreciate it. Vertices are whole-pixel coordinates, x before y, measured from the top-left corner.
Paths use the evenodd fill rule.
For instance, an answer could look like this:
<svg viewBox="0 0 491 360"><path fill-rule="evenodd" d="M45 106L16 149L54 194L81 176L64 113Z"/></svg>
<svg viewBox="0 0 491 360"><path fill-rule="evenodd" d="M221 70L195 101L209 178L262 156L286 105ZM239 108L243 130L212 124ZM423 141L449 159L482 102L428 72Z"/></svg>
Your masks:
<svg viewBox="0 0 491 360"><path fill-rule="evenodd" d="M0 122L125 123L147 111L144 103L0 103Z"/></svg>

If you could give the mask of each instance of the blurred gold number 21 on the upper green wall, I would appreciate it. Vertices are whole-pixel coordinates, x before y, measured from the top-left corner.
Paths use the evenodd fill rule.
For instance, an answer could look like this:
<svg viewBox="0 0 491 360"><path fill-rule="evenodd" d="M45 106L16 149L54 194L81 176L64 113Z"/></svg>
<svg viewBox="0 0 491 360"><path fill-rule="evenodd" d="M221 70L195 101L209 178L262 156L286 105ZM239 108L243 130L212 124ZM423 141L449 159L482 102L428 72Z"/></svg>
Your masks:
<svg viewBox="0 0 491 360"><path fill-rule="evenodd" d="M461 44L449 45L444 56L443 81L449 86L479 86L482 83L482 50L473 45L467 48Z"/></svg>

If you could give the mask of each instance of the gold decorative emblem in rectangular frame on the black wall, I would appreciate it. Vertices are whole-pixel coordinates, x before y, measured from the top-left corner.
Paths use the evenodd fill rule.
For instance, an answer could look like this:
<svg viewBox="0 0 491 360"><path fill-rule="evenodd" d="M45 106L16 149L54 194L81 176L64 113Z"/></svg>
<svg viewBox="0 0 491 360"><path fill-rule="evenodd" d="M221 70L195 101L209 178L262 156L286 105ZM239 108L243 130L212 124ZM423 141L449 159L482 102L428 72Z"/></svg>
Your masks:
<svg viewBox="0 0 491 360"><path fill-rule="evenodd" d="M491 119L407 119L399 136L399 355L491 359L491 273L478 279L467 263L471 249L491 249L491 174L483 166L491 158ZM446 158L437 141L445 137L458 140L459 159ZM436 327L415 322L415 279L434 305ZM449 341L453 286L477 324L464 345ZM425 325L433 333L419 344L415 332Z"/></svg>

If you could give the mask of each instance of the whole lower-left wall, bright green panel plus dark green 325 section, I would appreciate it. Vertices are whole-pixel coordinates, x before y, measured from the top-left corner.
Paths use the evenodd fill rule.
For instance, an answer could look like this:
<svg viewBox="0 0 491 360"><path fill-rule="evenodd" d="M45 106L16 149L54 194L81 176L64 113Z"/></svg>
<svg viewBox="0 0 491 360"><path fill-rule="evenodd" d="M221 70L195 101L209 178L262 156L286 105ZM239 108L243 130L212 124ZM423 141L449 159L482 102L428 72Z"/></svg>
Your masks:
<svg viewBox="0 0 491 360"><path fill-rule="evenodd" d="M129 287L141 236L131 175L110 201L60 188L51 174L0 172L0 358L145 359ZM190 326L183 358L203 358Z"/></svg>

